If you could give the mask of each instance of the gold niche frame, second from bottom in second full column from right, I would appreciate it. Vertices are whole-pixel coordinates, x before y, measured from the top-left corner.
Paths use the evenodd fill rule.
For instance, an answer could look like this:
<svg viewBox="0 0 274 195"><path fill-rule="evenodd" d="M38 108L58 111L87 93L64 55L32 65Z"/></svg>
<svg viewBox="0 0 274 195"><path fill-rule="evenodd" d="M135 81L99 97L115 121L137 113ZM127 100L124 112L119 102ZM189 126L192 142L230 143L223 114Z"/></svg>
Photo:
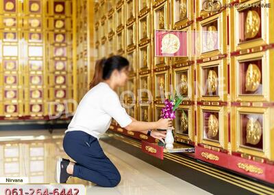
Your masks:
<svg viewBox="0 0 274 195"><path fill-rule="evenodd" d="M218 67L218 93L219 95L203 95L203 69ZM227 100L227 59L209 61L197 64L197 100L198 101L226 101Z"/></svg>

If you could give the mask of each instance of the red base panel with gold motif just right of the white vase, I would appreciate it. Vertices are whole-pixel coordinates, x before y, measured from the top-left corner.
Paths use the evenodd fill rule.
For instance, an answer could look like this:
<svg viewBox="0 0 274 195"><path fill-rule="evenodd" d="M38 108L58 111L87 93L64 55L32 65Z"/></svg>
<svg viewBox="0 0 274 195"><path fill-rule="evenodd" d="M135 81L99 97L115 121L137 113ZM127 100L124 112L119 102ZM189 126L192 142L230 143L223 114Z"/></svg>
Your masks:
<svg viewBox="0 0 274 195"><path fill-rule="evenodd" d="M223 166L225 168L228 166L227 153L212 151L210 149L195 146L195 157L199 160Z"/></svg>

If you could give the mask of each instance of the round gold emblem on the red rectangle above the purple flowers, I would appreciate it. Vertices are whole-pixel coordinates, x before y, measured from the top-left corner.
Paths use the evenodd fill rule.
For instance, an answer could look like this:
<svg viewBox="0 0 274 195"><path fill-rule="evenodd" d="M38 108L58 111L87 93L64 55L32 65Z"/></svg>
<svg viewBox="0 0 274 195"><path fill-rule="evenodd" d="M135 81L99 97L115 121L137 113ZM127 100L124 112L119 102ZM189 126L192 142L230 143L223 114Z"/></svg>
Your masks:
<svg viewBox="0 0 274 195"><path fill-rule="evenodd" d="M176 35L168 33L162 38L162 53L173 54L179 50L179 47L180 42Z"/></svg>

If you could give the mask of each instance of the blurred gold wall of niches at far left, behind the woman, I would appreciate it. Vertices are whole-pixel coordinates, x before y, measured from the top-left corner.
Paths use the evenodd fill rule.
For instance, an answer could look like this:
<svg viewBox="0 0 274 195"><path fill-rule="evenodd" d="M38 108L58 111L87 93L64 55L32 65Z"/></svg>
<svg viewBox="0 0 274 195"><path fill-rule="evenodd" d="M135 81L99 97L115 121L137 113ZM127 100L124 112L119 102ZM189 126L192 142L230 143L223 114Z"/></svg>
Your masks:
<svg viewBox="0 0 274 195"><path fill-rule="evenodd" d="M44 119L73 111L72 1L3 0L0 116ZM48 104L55 102L54 104Z"/></svg>

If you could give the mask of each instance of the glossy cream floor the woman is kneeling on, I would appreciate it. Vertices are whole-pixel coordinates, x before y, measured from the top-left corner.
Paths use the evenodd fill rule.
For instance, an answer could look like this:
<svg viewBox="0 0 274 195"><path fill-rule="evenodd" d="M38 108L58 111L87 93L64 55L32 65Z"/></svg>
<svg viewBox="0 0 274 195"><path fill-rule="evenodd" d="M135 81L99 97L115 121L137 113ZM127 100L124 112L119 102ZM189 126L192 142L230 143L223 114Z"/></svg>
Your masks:
<svg viewBox="0 0 274 195"><path fill-rule="evenodd" d="M44 130L0 132L0 175L29 177L30 183L55 183L55 160L67 157L62 149L64 131ZM105 154L121 172L115 188L101 188L77 178L68 183L83 183L87 195L97 194L209 194L138 158L100 141Z"/></svg>

